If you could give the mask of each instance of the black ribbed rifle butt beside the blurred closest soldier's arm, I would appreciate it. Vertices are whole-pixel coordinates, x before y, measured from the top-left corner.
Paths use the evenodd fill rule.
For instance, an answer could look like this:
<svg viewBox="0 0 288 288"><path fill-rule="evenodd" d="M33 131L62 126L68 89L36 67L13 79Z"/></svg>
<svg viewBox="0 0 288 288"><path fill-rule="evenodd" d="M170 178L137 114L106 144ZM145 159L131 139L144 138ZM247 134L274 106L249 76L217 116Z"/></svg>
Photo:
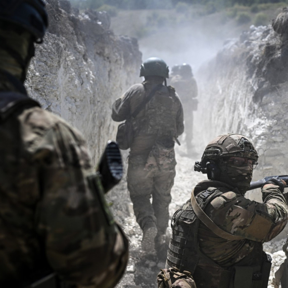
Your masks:
<svg viewBox="0 0 288 288"><path fill-rule="evenodd" d="M108 141L105 151L99 161L97 173L100 176L105 193L112 189L122 179L122 157L118 144L115 141Z"/></svg>

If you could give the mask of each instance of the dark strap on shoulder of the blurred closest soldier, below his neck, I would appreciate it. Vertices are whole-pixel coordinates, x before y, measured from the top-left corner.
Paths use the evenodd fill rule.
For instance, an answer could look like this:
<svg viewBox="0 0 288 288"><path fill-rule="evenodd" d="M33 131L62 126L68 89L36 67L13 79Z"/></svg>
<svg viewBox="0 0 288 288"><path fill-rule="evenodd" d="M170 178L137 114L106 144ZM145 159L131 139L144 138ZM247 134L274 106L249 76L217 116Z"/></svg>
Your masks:
<svg viewBox="0 0 288 288"><path fill-rule="evenodd" d="M40 104L27 95L17 92L0 92L0 121L6 120L21 107L41 107Z"/></svg>

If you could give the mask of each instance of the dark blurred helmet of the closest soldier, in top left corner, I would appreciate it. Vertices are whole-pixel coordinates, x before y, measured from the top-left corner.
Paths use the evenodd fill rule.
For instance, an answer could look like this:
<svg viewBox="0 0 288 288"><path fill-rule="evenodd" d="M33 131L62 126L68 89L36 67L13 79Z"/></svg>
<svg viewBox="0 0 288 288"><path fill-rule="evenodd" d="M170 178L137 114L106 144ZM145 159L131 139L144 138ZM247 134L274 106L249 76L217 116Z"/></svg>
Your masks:
<svg viewBox="0 0 288 288"><path fill-rule="evenodd" d="M1 0L0 20L23 27L35 37L37 43L42 42L48 26L42 0Z"/></svg>

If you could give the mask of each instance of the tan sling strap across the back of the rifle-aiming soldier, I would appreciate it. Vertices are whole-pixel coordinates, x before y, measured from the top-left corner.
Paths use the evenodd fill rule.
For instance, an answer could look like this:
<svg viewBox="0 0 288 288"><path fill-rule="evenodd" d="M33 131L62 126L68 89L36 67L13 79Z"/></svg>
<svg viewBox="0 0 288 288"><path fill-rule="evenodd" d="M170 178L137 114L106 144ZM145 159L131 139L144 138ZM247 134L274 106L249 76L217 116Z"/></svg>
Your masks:
<svg viewBox="0 0 288 288"><path fill-rule="evenodd" d="M191 206L197 215L197 217L212 231L214 232L217 236L227 239L227 240L240 240L244 239L242 236L236 236L231 233L228 233L221 228L219 228L206 214L205 212L201 209L201 207L198 205L195 195L194 195L194 189L192 190L191 193Z"/></svg>

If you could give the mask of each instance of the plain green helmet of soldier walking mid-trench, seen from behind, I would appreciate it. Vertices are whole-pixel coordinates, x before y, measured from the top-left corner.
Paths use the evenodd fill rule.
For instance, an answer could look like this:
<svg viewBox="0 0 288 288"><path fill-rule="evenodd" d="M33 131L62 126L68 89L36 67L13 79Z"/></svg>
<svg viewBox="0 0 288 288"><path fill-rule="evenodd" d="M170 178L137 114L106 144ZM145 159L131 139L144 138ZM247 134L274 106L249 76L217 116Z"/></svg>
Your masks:
<svg viewBox="0 0 288 288"><path fill-rule="evenodd" d="M164 78L169 78L169 69L164 60L151 57L143 62L140 67L140 77L141 76L161 76Z"/></svg>

